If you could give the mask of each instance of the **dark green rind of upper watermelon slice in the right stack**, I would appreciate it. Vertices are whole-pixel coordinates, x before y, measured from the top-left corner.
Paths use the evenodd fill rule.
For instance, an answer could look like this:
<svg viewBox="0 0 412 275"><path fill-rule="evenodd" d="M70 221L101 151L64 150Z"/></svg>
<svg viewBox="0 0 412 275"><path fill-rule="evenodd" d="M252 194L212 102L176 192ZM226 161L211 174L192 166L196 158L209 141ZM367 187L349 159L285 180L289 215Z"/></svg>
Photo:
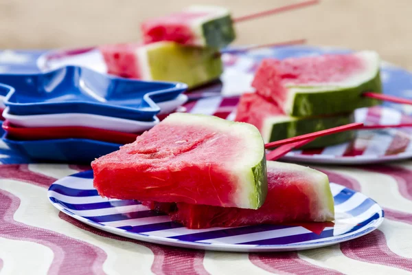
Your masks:
<svg viewBox="0 0 412 275"><path fill-rule="evenodd" d="M294 87L289 87L293 90ZM307 87L312 89L314 87ZM292 100L292 108L286 107L286 113L292 116L327 115L331 113L350 113L362 107L372 107L380 104L380 100L364 98L365 91L382 93L380 72L369 81L356 87L330 87L325 91L305 92L305 87L296 89Z"/></svg>

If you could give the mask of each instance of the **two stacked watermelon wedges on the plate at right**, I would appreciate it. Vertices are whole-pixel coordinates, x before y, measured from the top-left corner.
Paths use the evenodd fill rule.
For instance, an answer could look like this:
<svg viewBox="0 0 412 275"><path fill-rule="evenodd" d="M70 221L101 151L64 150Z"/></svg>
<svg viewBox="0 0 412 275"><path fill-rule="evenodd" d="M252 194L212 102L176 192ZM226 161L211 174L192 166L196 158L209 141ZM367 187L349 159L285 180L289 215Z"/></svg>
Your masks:
<svg viewBox="0 0 412 275"><path fill-rule="evenodd" d="M370 51L264 59L253 79L255 94L242 95L236 121L255 125L265 142L354 122L355 109L380 103L362 96L365 91L382 93L379 63L378 54ZM337 133L305 148L354 137L353 131Z"/></svg>

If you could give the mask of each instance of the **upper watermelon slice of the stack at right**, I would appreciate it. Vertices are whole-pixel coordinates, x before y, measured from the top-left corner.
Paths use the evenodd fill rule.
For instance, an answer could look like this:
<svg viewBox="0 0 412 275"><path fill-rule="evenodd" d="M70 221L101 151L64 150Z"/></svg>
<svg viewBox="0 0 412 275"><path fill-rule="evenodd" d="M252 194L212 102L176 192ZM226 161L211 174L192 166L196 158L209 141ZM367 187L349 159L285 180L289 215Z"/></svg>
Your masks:
<svg viewBox="0 0 412 275"><path fill-rule="evenodd" d="M350 113L380 103L361 96L365 91L382 93L379 63L378 54L369 51L265 59L252 85L288 115Z"/></svg>

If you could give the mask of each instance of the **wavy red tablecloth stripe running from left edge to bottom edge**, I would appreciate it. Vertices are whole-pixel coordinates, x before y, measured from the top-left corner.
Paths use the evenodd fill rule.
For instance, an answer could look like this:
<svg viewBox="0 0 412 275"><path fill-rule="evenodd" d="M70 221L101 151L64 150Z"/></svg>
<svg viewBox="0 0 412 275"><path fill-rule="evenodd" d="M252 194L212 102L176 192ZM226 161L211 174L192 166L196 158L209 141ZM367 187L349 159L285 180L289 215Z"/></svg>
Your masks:
<svg viewBox="0 0 412 275"><path fill-rule="evenodd" d="M50 248L54 258L49 274L73 274L73 263L76 274L104 274L103 263L107 255L102 249L51 230L14 221L20 199L0 190L0 201L0 236L40 243Z"/></svg>

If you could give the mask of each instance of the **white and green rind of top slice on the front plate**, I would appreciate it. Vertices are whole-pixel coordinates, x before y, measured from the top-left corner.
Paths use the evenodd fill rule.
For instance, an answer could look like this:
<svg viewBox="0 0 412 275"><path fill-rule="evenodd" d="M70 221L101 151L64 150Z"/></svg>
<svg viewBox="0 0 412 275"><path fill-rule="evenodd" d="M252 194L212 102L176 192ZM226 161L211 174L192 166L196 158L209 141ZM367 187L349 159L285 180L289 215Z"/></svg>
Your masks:
<svg viewBox="0 0 412 275"><path fill-rule="evenodd" d="M188 118L188 115L192 117L192 119ZM264 150L264 142L262 139L262 135L260 135L259 130L249 123L244 122L233 122L229 120L223 120L222 118L218 118L213 115L203 115L203 114L187 114L187 113L173 113L169 115L166 120L168 122L171 121L173 118L174 121L179 122L179 124L193 124L195 118L199 118L197 122L202 122L202 126L206 126L209 124L216 129L221 129L229 134L234 134L236 129L231 127L242 126L241 135L242 137L246 137L247 133L249 132L249 139L245 140L247 144L253 144L258 150L255 152L256 155L251 155L251 152L247 155L244 155L245 159L256 159L255 164L251 164L251 166L242 168L241 170L236 170L235 173L238 175L238 179L242 180L245 184L250 184L250 186L245 186L244 192L239 194L236 204L238 208L250 208L250 209L258 209L264 203L266 199L266 195L268 192L268 183L267 183L267 175L266 175L266 154ZM206 122L204 119L209 120ZM195 122L195 123L197 123ZM172 122L173 123L173 122ZM229 144L227 144L229 146ZM245 146L239 148L239 150L244 149ZM239 159L233 159L233 162L239 163Z"/></svg>

